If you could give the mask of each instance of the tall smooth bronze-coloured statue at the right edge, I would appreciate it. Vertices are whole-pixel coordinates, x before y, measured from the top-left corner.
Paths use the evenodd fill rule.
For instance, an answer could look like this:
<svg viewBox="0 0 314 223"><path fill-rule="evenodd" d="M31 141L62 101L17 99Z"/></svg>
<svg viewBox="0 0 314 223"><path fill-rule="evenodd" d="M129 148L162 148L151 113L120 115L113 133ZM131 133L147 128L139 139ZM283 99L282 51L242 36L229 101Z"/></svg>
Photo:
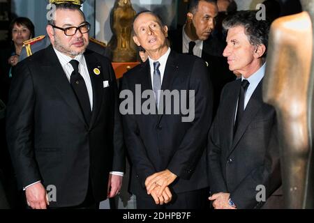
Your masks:
<svg viewBox="0 0 314 223"><path fill-rule="evenodd" d="M281 173L287 208L313 208L314 0L304 12L271 25L264 101L278 118Z"/></svg>

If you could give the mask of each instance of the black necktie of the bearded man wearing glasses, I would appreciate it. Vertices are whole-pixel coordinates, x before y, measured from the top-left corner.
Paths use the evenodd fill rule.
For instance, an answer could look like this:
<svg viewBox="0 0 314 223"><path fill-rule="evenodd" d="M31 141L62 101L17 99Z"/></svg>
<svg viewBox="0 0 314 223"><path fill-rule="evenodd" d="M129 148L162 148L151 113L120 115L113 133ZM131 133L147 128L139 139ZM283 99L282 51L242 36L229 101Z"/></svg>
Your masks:
<svg viewBox="0 0 314 223"><path fill-rule="evenodd" d="M72 60L70 64L73 67L73 72L70 77L70 83L75 92L77 100L80 102L80 107L83 111L87 123L91 121L91 104L89 102L89 93L82 75L78 72L79 61Z"/></svg>

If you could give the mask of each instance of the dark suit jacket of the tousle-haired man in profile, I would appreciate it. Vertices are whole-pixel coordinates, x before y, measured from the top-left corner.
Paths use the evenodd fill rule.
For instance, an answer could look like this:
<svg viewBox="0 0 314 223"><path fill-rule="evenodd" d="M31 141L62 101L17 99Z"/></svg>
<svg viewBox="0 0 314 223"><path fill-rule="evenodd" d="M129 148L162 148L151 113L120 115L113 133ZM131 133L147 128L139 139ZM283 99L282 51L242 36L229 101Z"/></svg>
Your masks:
<svg viewBox="0 0 314 223"><path fill-rule="evenodd" d="M276 112L262 101L261 81L233 137L240 84L226 84L209 132L211 193L229 192L237 208L258 208L257 185L266 187L266 197L281 185Z"/></svg>

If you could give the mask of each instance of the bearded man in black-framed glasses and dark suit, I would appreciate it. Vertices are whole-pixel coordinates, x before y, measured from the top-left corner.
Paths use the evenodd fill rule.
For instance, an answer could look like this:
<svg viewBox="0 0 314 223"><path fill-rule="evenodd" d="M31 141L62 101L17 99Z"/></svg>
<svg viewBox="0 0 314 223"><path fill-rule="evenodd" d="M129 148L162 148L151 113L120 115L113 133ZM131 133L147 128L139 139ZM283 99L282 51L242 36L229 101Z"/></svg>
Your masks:
<svg viewBox="0 0 314 223"><path fill-rule="evenodd" d="M80 6L56 8L52 45L20 62L13 77L8 147L31 208L98 208L119 192L124 171L117 83L110 61L85 51ZM56 189L50 202L48 185Z"/></svg>

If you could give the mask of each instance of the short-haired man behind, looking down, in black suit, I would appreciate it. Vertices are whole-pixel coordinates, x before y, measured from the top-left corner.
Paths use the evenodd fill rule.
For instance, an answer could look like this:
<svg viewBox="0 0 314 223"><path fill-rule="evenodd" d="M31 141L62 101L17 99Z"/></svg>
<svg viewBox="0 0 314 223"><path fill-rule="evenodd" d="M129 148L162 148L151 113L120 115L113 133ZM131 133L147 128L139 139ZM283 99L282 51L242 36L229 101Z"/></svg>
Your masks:
<svg viewBox="0 0 314 223"><path fill-rule="evenodd" d="M170 46L179 53L201 57L207 62L214 87L214 114L218 108L221 89L236 77L230 72L223 57L225 39L212 35L218 15L216 0L191 0L186 14L186 24L170 31Z"/></svg>

